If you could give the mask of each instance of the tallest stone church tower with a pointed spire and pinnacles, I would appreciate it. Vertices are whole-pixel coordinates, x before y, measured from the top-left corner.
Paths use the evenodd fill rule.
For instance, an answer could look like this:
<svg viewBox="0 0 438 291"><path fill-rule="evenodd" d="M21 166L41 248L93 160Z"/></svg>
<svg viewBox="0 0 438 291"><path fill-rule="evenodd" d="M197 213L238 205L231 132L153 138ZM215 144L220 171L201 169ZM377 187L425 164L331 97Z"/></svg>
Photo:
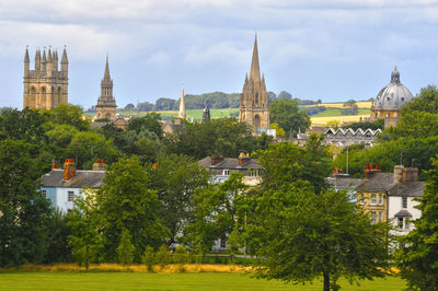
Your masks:
<svg viewBox="0 0 438 291"><path fill-rule="evenodd" d="M269 95L266 92L265 75L261 78L260 73L257 35L254 40L250 78L246 74L240 95L239 121L247 123L255 133L269 128Z"/></svg>

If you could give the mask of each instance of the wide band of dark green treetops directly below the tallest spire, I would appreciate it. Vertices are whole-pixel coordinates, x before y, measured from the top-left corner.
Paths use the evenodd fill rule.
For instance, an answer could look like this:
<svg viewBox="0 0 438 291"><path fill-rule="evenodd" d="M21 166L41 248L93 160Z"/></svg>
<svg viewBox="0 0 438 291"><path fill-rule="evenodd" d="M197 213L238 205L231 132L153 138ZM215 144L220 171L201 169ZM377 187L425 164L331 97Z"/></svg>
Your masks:
<svg viewBox="0 0 438 291"><path fill-rule="evenodd" d="M238 156L240 152L266 149L270 136L254 137L245 123L235 119L215 119L205 124L185 124L185 127L164 139L169 154L184 154L195 159L209 155Z"/></svg>

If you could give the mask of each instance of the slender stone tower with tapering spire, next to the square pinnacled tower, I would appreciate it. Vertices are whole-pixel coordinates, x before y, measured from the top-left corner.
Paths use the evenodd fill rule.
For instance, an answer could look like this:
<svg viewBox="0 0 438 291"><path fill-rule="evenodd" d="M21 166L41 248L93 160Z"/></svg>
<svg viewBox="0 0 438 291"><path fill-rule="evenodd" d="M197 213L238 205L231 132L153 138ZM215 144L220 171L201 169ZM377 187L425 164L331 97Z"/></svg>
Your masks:
<svg viewBox="0 0 438 291"><path fill-rule="evenodd" d="M115 119L116 107L116 100L113 96L113 80L110 75L108 56L106 56L105 73L101 81L101 96L97 100L96 115L94 119Z"/></svg>

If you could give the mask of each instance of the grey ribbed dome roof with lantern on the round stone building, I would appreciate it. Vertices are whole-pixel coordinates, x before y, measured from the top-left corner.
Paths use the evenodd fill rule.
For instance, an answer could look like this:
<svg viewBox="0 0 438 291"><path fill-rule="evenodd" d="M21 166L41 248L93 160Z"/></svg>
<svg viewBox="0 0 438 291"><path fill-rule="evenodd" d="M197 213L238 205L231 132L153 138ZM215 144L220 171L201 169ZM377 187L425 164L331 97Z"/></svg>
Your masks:
<svg viewBox="0 0 438 291"><path fill-rule="evenodd" d="M400 72L394 69L391 73L391 82L380 90L376 101L372 104L374 108L395 108L413 100L411 91L400 82Z"/></svg>

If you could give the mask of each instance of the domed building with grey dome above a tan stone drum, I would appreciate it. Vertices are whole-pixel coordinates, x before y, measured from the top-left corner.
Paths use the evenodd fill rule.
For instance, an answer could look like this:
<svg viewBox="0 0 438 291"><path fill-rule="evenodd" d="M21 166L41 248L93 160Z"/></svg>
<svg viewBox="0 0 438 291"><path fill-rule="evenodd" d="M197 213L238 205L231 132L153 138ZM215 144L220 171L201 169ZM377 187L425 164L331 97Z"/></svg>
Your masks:
<svg viewBox="0 0 438 291"><path fill-rule="evenodd" d="M412 101L411 91L400 82L400 72L395 69L391 73L391 82L380 90L371 106L371 121L384 119L384 126L395 126L402 105Z"/></svg>

